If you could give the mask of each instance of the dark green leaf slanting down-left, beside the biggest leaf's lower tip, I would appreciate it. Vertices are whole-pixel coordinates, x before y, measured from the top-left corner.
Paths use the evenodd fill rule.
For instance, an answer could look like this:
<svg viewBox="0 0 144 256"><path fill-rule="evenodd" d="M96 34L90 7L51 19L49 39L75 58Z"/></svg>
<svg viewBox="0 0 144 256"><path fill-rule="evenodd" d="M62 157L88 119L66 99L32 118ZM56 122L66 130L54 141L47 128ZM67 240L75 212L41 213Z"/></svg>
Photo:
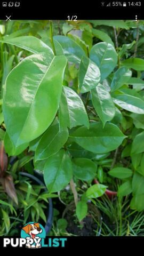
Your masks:
<svg viewBox="0 0 144 256"><path fill-rule="evenodd" d="M68 130L60 132L59 124L49 127L43 134L36 148L36 161L43 160L57 153L68 139Z"/></svg>

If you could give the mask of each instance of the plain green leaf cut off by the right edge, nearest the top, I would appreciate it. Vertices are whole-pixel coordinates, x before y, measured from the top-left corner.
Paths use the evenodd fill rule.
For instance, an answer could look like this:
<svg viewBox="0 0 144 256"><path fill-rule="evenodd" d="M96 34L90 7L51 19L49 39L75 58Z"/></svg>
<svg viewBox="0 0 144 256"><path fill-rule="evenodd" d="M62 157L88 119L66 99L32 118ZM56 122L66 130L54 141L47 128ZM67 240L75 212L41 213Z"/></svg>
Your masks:
<svg viewBox="0 0 144 256"><path fill-rule="evenodd" d="M126 59L122 62L123 66L126 66L128 68L133 68L138 71L144 70L144 60L140 58L130 58Z"/></svg>

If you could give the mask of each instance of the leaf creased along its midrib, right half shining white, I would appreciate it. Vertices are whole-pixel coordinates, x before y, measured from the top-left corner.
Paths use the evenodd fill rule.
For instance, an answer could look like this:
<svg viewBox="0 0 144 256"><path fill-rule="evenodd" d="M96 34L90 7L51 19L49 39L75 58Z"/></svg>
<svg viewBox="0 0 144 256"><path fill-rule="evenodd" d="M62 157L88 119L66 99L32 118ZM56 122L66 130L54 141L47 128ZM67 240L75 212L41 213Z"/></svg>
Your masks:
<svg viewBox="0 0 144 256"><path fill-rule="evenodd" d="M100 81L100 70L98 66L85 56L83 56L79 65L78 79L79 91L82 93L89 92Z"/></svg>

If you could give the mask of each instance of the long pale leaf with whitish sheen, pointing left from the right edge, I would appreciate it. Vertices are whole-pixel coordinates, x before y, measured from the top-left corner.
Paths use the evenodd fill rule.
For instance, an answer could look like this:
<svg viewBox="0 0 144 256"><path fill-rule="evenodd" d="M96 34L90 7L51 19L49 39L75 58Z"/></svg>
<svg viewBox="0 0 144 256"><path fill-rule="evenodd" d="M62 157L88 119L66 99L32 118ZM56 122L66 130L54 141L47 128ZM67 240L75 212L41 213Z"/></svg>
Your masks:
<svg viewBox="0 0 144 256"><path fill-rule="evenodd" d="M122 92L116 92L113 97L119 107L133 113L144 114L144 101L140 98Z"/></svg>

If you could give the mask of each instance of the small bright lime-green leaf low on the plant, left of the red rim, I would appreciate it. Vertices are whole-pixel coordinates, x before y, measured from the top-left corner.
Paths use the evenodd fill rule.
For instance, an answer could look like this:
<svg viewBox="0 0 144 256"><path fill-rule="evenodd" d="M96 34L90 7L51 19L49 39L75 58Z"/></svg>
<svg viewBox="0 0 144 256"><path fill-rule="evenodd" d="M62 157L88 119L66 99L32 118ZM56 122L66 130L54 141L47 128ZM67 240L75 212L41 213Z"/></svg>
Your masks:
<svg viewBox="0 0 144 256"><path fill-rule="evenodd" d="M88 198L97 198L102 196L106 191L106 186L101 184L95 184L92 185L90 188L86 191L86 197Z"/></svg>

